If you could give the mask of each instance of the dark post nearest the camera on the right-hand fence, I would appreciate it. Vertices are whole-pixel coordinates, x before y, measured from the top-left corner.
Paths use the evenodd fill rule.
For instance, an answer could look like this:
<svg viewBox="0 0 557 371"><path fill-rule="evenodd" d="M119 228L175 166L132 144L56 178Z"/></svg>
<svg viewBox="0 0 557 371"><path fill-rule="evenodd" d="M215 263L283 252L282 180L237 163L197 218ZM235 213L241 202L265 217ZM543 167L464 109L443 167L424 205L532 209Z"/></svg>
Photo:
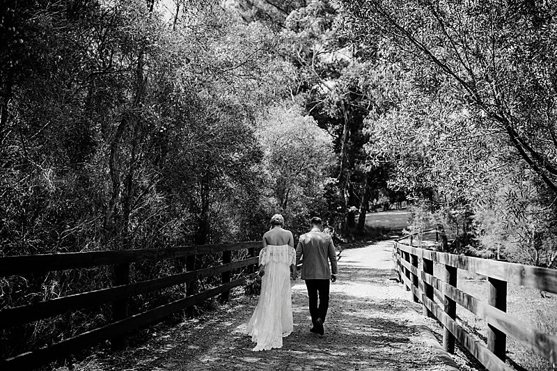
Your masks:
<svg viewBox="0 0 557 371"><path fill-rule="evenodd" d="M496 278L487 278L489 285L489 297L487 302L490 306L494 306L503 312L507 311L507 282ZM507 348L507 336L502 331L487 324L487 349L493 354L505 361L505 352Z"/></svg>

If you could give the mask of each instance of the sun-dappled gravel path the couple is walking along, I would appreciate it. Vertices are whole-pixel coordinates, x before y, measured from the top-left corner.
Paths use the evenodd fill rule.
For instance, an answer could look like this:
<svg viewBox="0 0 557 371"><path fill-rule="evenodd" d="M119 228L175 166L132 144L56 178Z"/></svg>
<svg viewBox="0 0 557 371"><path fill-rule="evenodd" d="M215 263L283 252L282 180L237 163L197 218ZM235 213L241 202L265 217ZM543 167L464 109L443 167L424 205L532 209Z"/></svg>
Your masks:
<svg viewBox="0 0 557 371"><path fill-rule="evenodd" d="M309 332L306 287L298 280L292 287L294 333L282 349L251 352L254 345L244 331L257 298L233 295L214 313L173 328L155 327L139 347L95 358L81 369L447 370L420 330L418 307L389 281L391 254L389 242L343 251L323 337Z"/></svg>

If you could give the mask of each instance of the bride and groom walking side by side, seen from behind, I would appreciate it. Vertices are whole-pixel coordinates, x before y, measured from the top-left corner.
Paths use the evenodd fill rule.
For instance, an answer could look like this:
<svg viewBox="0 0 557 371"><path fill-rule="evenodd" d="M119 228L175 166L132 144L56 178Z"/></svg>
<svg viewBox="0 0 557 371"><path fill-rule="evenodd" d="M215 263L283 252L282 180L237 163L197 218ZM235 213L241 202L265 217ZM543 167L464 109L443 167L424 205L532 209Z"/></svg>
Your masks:
<svg viewBox="0 0 557 371"><path fill-rule="evenodd" d="M296 266L303 258L301 279L306 281L311 332L323 335L323 322L329 307L329 281L336 281L336 253L331 236L321 232L321 219L311 219L311 231L301 235L294 249L294 237L284 229L281 214L271 218L271 230L263 235L259 253L261 293L247 331L257 345L253 351L280 348L283 338L293 330L290 278L296 279ZM331 269L329 269L329 261ZM332 272L332 274L331 274Z"/></svg>

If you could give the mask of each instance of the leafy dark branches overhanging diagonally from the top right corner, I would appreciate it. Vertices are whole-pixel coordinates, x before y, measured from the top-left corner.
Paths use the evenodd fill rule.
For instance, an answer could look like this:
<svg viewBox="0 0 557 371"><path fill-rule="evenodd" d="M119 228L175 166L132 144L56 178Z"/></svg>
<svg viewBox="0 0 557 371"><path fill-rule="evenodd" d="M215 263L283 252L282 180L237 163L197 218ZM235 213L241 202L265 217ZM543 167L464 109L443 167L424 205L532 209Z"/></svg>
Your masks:
<svg viewBox="0 0 557 371"><path fill-rule="evenodd" d="M557 193L557 63L549 52L557 40L554 3L370 0L345 6L356 40L378 45L387 38L418 84L443 90L483 116L484 129L505 133L506 144Z"/></svg>

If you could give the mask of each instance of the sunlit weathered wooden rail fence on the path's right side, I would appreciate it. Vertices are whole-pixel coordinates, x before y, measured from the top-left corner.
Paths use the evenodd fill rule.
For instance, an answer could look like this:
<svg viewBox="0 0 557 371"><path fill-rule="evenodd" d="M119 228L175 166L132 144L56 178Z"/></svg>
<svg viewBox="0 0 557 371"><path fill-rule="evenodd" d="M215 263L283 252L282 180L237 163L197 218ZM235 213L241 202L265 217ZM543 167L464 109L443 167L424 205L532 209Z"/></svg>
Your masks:
<svg viewBox="0 0 557 371"><path fill-rule="evenodd" d="M488 370L512 371L505 363L506 338L510 336L557 365L557 337L506 313L508 283L557 294L556 269L439 253L400 242L395 242L395 256L401 281L414 301L423 304L423 315L443 324L446 351L454 353L456 339ZM435 262L444 267L444 281L433 275ZM487 303L457 288L457 269L487 277ZM443 308L435 303L434 294L444 303ZM487 346L455 321L457 303L487 322Z"/></svg>

